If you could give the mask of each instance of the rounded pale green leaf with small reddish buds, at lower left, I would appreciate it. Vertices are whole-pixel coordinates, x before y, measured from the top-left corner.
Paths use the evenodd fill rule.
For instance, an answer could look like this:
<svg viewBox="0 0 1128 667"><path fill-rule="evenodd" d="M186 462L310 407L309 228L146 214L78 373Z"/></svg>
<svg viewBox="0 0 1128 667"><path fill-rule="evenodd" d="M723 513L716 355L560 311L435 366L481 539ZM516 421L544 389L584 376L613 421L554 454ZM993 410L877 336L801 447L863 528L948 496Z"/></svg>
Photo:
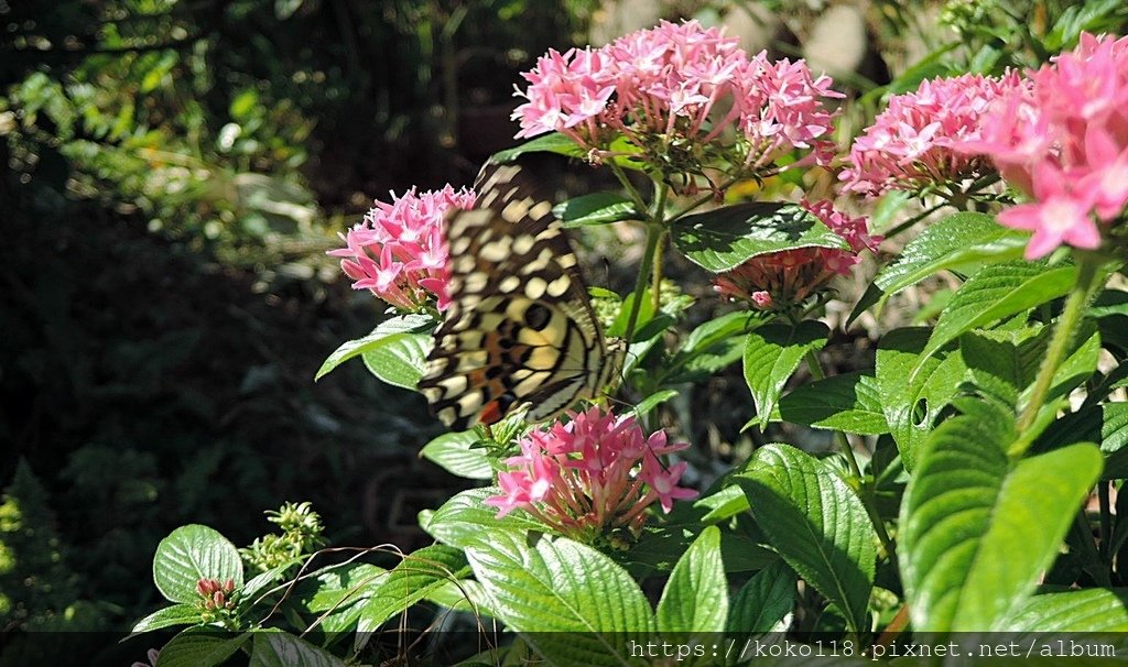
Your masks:
<svg viewBox="0 0 1128 667"><path fill-rule="evenodd" d="M157 545L152 559L152 580L170 602L194 603L199 599L196 582L214 579L235 580L243 586L243 561L239 550L227 537L208 526L190 524L176 528Z"/></svg>

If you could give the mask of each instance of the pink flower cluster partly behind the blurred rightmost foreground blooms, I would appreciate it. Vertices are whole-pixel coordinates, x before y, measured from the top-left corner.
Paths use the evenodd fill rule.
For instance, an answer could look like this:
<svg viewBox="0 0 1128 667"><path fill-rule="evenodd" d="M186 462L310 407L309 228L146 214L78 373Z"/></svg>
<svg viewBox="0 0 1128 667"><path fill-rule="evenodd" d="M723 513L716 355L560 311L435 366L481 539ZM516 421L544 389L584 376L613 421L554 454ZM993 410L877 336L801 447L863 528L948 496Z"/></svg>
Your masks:
<svg viewBox="0 0 1128 667"><path fill-rule="evenodd" d="M893 189L919 193L993 172L982 155L960 148L980 139L980 119L990 105L1020 87L1016 72L997 79L963 74L895 95L854 140L849 166L839 175L843 189L870 197Z"/></svg>

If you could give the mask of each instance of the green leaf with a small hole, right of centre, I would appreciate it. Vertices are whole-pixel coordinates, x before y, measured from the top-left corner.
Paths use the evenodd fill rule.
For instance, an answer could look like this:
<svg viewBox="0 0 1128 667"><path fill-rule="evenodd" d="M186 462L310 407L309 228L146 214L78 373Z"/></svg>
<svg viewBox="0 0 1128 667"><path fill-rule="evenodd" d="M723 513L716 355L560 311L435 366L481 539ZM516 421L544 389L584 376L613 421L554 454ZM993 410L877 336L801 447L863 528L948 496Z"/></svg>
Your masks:
<svg viewBox="0 0 1128 667"><path fill-rule="evenodd" d="M916 466L917 448L967 373L960 355L941 350L910 377L928 335L929 329L924 327L895 329L878 345L878 393L889 432L909 472Z"/></svg>

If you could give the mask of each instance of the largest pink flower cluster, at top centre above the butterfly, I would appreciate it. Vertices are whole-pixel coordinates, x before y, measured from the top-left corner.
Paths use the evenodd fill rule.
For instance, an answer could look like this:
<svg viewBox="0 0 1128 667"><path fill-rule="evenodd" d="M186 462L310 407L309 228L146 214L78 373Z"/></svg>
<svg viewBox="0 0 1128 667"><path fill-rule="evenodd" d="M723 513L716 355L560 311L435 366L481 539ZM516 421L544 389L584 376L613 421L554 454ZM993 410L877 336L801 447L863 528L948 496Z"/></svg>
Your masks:
<svg viewBox="0 0 1128 667"><path fill-rule="evenodd" d="M697 21L662 21L597 50L549 51L522 75L518 137L562 132L598 155L619 134L640 148L685 149L734 128L737 161L754 170L792 149L819 164L835 153L823 100L843 96L828 77L812 79L803 61L749 57L738 39Z"/></svg>

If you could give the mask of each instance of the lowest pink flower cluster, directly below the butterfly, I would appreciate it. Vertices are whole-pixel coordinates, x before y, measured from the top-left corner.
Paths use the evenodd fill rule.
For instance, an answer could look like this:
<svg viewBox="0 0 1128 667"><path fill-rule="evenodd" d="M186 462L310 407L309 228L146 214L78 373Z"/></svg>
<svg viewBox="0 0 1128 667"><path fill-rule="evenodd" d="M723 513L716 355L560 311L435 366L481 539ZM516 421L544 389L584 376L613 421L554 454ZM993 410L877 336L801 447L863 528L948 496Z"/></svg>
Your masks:
<svg viewBox="0 0 1128 667"><path fill-rule="evenodd" d="M616 528L637 535L644 509L658 500L667 513L675 500L697 491L678 487L686 463L664 465L658 457L685 450L667 444L659 430L649 438L634 417L616 417L598 407L570 412L566 424L532 430L497 474L502 495L486 499L502 517L521 508L563 535L592 542Z"/></svg>

